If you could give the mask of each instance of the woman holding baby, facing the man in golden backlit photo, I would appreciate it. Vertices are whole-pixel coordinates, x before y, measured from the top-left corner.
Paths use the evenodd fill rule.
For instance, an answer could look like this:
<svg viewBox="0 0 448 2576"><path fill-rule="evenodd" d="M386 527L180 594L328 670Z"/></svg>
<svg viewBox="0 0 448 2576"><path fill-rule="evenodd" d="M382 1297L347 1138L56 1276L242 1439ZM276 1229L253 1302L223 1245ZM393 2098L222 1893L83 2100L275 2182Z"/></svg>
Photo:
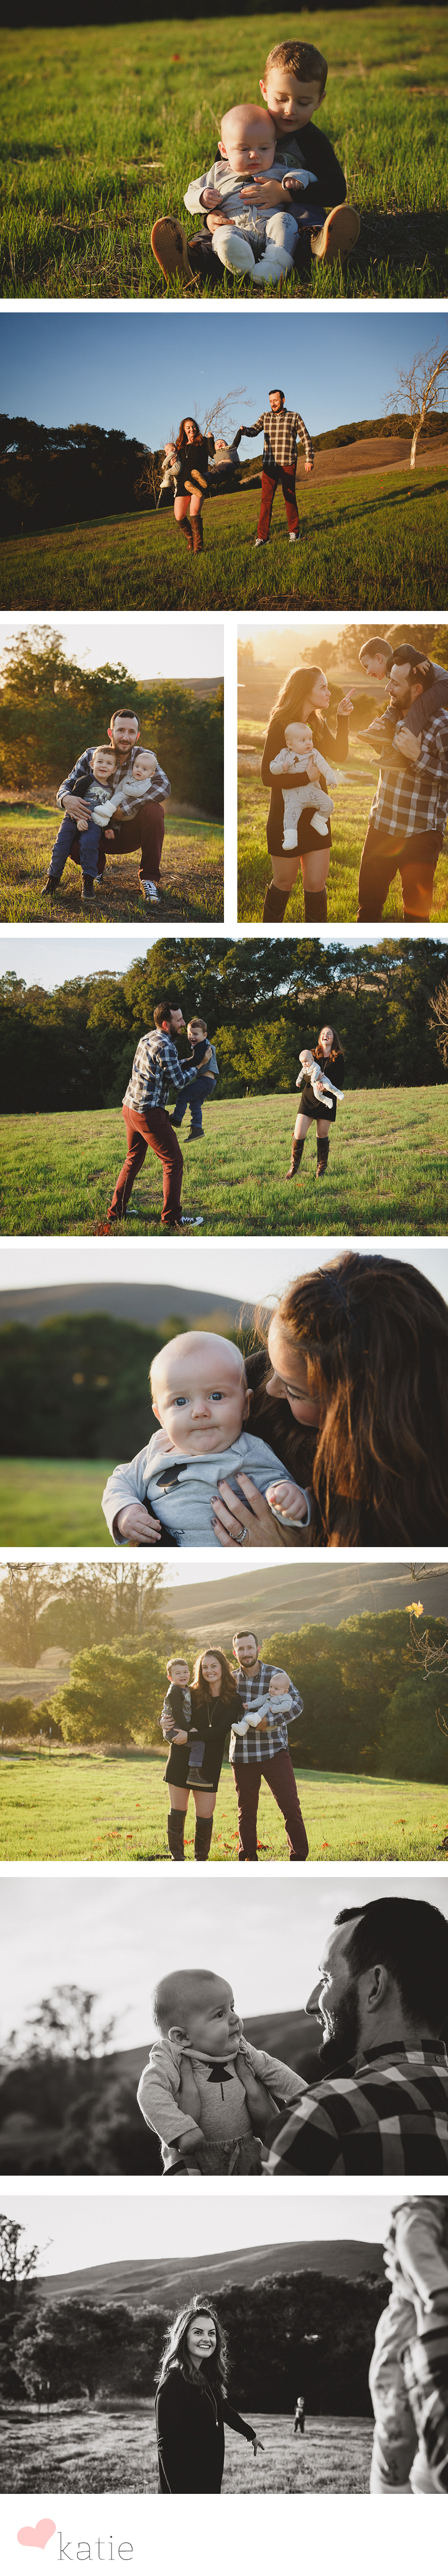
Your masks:
<svg viewBox="0 0 448 2576"><path fill-rule="evenodd" d="M270 711L265 750L263 750L263 786L270 788L270 811L265 824L265 840L273 866L273 878L265 894L263 922L283 922L288 894L296 886L301 868L304 878L304 920L327 922L327 871L332 829L327 819L327 832L314 832L312 814L304 809L296 824L296 850L283 850L283 788L296 786L296 775L283 770L283 775L270 778L270 760L286 747L286 724L309 724L314 739L314 755L306 762L309 781L319 786L319 752L324 760L348 760L348 716L353 711L353 698L340 698L337 729L332 734L324 721L330 708L330 685L324 670L309 662L304 670L291 670L288 680L278 690L275 706Z"/></svg>

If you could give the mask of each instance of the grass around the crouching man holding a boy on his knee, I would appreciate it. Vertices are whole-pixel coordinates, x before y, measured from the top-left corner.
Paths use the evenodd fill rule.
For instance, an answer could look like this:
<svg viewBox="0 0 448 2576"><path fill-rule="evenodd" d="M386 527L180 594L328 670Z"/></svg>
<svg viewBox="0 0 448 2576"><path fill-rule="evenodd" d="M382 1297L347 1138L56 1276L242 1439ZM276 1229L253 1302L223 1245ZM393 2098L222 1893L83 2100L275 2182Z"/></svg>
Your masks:
<svg viewBox="0 0 448 2576"><path fill-rule="evenodd" d="M103 894L82 907L82 873L67 860L62 884L44 894L46 868L59 829L57 809L0 809L0 917L3 922L221 922L224 920L224 835L219 824L165 819L162 909L139 891L139 853L108 858Z"/></svg>

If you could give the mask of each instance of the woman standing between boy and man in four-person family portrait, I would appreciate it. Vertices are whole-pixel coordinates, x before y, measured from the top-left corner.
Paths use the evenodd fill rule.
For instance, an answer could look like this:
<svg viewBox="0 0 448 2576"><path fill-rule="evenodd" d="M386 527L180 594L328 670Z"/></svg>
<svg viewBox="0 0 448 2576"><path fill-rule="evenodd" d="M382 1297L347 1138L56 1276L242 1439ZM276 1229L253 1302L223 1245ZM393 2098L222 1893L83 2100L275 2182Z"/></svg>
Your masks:
<svg viewBox="0 0 448 2576"><path fill-rule="evenodd" d="M193 1790L196 1803L196 1860L209 1860L214 1834L214 1808L221 1777L224 1741L232 1721L242 1716L242 1700L221 1646L196 1654L191 1682L191 1726L203 1739L201 1770L191 1777L191 1726L178 1728L170 1741L165 1780L170 1788L167 1850L173 1860L185 1860L185 1811Z"/></svg>

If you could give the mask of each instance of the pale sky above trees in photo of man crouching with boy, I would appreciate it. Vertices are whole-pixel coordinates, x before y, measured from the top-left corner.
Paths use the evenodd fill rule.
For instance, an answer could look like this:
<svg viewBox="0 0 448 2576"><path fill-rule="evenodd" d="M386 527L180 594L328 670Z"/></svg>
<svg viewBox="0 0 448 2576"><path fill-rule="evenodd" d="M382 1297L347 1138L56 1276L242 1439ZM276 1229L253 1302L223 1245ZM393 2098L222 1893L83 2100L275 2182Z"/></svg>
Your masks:
<svg viewBox="0 0 448 2576"><path fill-rule="evenodd" d="M134 680L221 680L224 672L224 629L214 626L209 618L170 618L162 626L157 616L142 618L126 616L90 616L90 618L44 618L41 626L28 623L28 644L33 652L44 634L62 636L67 654L85 670L103 670L103 662L124 662ZM3 685L3 654L15 636L23 634L21 618L0 618L0 685Z"/></svg>

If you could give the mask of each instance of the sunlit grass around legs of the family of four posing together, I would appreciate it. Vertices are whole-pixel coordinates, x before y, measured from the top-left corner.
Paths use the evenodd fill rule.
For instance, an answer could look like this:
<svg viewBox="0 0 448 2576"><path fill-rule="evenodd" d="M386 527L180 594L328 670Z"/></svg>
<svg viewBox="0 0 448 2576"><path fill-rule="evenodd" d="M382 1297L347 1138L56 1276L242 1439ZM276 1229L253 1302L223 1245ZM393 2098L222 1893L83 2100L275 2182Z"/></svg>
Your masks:
<svg viewBox="0 0 448 2576"><path fill-rule="evenodd" d="M157 1754L23 1752L0 1759L0 1860L167 1860L167 1788ZM301 1772L296 1785L312 1860L435 1860L448 1788ZM260 1860L288 1860L283 1819L260 1788ZM193 1798L185 1860L193 1862ZM237 1798L221 1770L211 1860L237 1860Z"/></svg>

